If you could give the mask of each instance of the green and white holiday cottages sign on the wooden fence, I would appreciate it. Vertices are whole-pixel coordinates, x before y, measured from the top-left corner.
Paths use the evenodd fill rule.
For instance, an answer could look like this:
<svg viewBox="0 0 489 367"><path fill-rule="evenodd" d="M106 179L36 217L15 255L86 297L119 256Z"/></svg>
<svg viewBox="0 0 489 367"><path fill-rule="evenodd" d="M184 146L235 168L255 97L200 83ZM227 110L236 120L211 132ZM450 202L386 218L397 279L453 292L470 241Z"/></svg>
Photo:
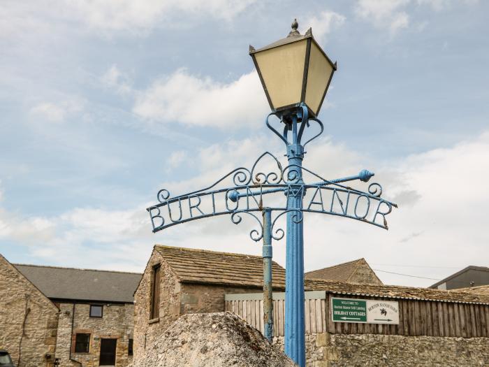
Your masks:
<svg viewBox="0 0 489 367"><path fill-rule="evenodd" d="M331 310L331 318L334 322L399 324L397 302L333 297Z"/></svg>

